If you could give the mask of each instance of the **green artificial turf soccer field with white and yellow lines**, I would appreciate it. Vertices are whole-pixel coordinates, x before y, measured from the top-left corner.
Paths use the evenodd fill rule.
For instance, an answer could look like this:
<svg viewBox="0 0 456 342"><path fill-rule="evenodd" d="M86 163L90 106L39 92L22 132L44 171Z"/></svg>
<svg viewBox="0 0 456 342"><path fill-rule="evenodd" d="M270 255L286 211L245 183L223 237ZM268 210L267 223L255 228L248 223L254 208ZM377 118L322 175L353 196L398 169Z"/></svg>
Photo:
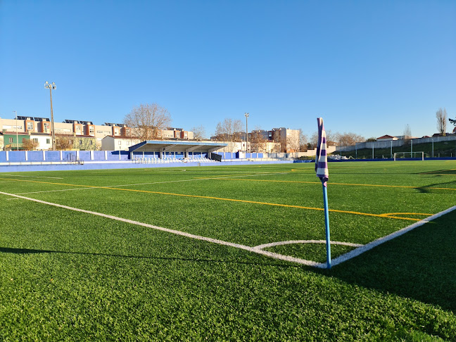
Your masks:
<svg viewBox="0 0 456 342"><path fill-rule="evenodd" d="M313 167L0 174L0 339L454 340L456 161Z"/></svg>

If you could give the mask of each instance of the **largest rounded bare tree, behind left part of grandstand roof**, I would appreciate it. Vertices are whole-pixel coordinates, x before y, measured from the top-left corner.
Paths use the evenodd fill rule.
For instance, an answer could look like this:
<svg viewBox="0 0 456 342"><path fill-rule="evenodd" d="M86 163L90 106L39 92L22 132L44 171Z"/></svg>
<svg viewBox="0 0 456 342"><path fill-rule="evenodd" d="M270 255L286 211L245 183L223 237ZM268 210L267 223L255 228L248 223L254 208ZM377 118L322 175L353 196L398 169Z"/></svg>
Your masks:
<svg viewBox="0 0 456 342"><path fill-rule="evenodd" d="M132 135L141 140L160 139L162 129L171 125L171 115L157 103L141 103L133 107L124 118L128 127L133 127Z"/></svg>

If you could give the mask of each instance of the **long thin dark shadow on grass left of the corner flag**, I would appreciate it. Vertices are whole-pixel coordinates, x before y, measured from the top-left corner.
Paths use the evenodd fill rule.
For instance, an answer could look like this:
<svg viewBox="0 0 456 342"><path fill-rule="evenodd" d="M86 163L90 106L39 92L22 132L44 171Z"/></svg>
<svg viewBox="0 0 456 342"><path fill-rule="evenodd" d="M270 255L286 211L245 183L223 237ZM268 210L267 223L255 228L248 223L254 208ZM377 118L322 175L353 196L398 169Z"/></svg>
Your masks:
<svg viewBox="0 0 456 342"><path fill-rule="evenodd" d="M87 252L69 252L69 251L50 251L45 249L30 249L30 248L8 248L0 247L0 253L13 253L13 254L44 254L44 253L56 253L56 254L72 254L72 255L94 255L112 258L127 258L127 259L150 259L150 260L180 260L180 261L191 261L191 262L224 262L233 264L243 265L261 265L261 266L279 266L284 268L300 268L301 265L291 264L290 262L258 262L258 261L241 261L241 260L229 260L229 259L208 259L208 258L177 258L177 257L159 257L159 256L148 256L148 255L121 255L121 254L108 254L108 253L87 253Z"/></svg>

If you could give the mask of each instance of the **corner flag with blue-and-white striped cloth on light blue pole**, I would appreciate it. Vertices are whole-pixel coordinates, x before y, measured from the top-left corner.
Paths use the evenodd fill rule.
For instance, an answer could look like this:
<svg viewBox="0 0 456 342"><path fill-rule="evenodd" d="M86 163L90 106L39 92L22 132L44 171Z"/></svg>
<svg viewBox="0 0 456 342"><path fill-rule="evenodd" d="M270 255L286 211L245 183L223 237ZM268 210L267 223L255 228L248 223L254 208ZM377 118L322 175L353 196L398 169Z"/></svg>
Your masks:
<svg viewBox="0 0 456 342"><path fill-rule="evenodd" d="M323 119L317 118L318 124L318 144L317 154L315 156L315 172L317 177L323 184L323 202L324 202L324 226L327 238L327 268L331 268L331 239L329 238L329 213L328 213L328 189L327 182L329 178L328 172L328 156L327 156L327 141L326 132L324 132Z"/></svg>

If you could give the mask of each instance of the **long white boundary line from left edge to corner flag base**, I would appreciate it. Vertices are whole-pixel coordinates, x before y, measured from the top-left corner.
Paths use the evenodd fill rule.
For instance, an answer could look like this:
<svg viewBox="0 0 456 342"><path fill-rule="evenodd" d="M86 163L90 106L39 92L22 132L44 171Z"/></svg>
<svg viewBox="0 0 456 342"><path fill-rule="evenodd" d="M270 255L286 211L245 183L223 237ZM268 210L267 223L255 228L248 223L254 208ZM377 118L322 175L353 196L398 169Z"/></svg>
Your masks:
<svg viewBox="0 0 456 342"><path fill-rule="evenodd" d="M158 227L158 226L154 226L153 224L147 224L147 223L138 222L138 221L134 221L134 220L128 220L128 219L125 219L125 218L122 218L122 217L117 217L117 216L113 216L113 215L106 215L106 214L103 214L103 213L96 213L95 211L90 211L90 210L72 208L72 207L69 207L68 205L61 205L61 204L57 204L57 203L40 201L40 200L35 199L35 198L18 196L18 195L15 195L15 194L8 194L6 192L1 192L0 191L0 194L6 195L6 196L13 196L15 198L22 198L22 199L25 199L25 200L28 200L28 201L33 201L33 202L42 203L42 204L46 204L46 205L53 205L54 207L63 208L63 209L67 209L67 210L74 210L74 211L77 211L77 212L80 212L80 213L86 213L86 214L106 217L106 218L111 219L111 220L117 220L117 221L129 223L129 224L137 224L137 225L142 226L142 227L148 227L148 228L152 228L152 229L157 229L157 230L160 230L162 232L167 232L167 233L176 234L176 235L180 235L180 236L186 236L186 237L188 237L190 239L207 241L207 242L210 242L210 243L217 243L217 244L222 245L222 246L229 246L229 247L239 248L239 249L243 249L244 251L249 251L249 252L265 255L267 257L274 258L274 259L285 260L285 261L289 261L289 262L296 262L296 263L301 264L301 265L308 265L308 266L312 266L312 267L319 267L319 268L326 267L326 264L322 264L320 262L315 262L315 261L311 261L311 260L304 260L304 259L300 259L300 258L294 258L294 257L291 257L289 255L281 255L281 254L278 254L278 253L272 253L272 252L268 252L268 251L262 251L260 248L245 246L245 245L241 245L239 243L232 243L232 242L222 241L222 240L218 240L218 239L208 238L208 237L205 237L205 236L189 234L189 233L181 232L181 231L175 230L175 229L168 229L168 228Z"/></svg>

